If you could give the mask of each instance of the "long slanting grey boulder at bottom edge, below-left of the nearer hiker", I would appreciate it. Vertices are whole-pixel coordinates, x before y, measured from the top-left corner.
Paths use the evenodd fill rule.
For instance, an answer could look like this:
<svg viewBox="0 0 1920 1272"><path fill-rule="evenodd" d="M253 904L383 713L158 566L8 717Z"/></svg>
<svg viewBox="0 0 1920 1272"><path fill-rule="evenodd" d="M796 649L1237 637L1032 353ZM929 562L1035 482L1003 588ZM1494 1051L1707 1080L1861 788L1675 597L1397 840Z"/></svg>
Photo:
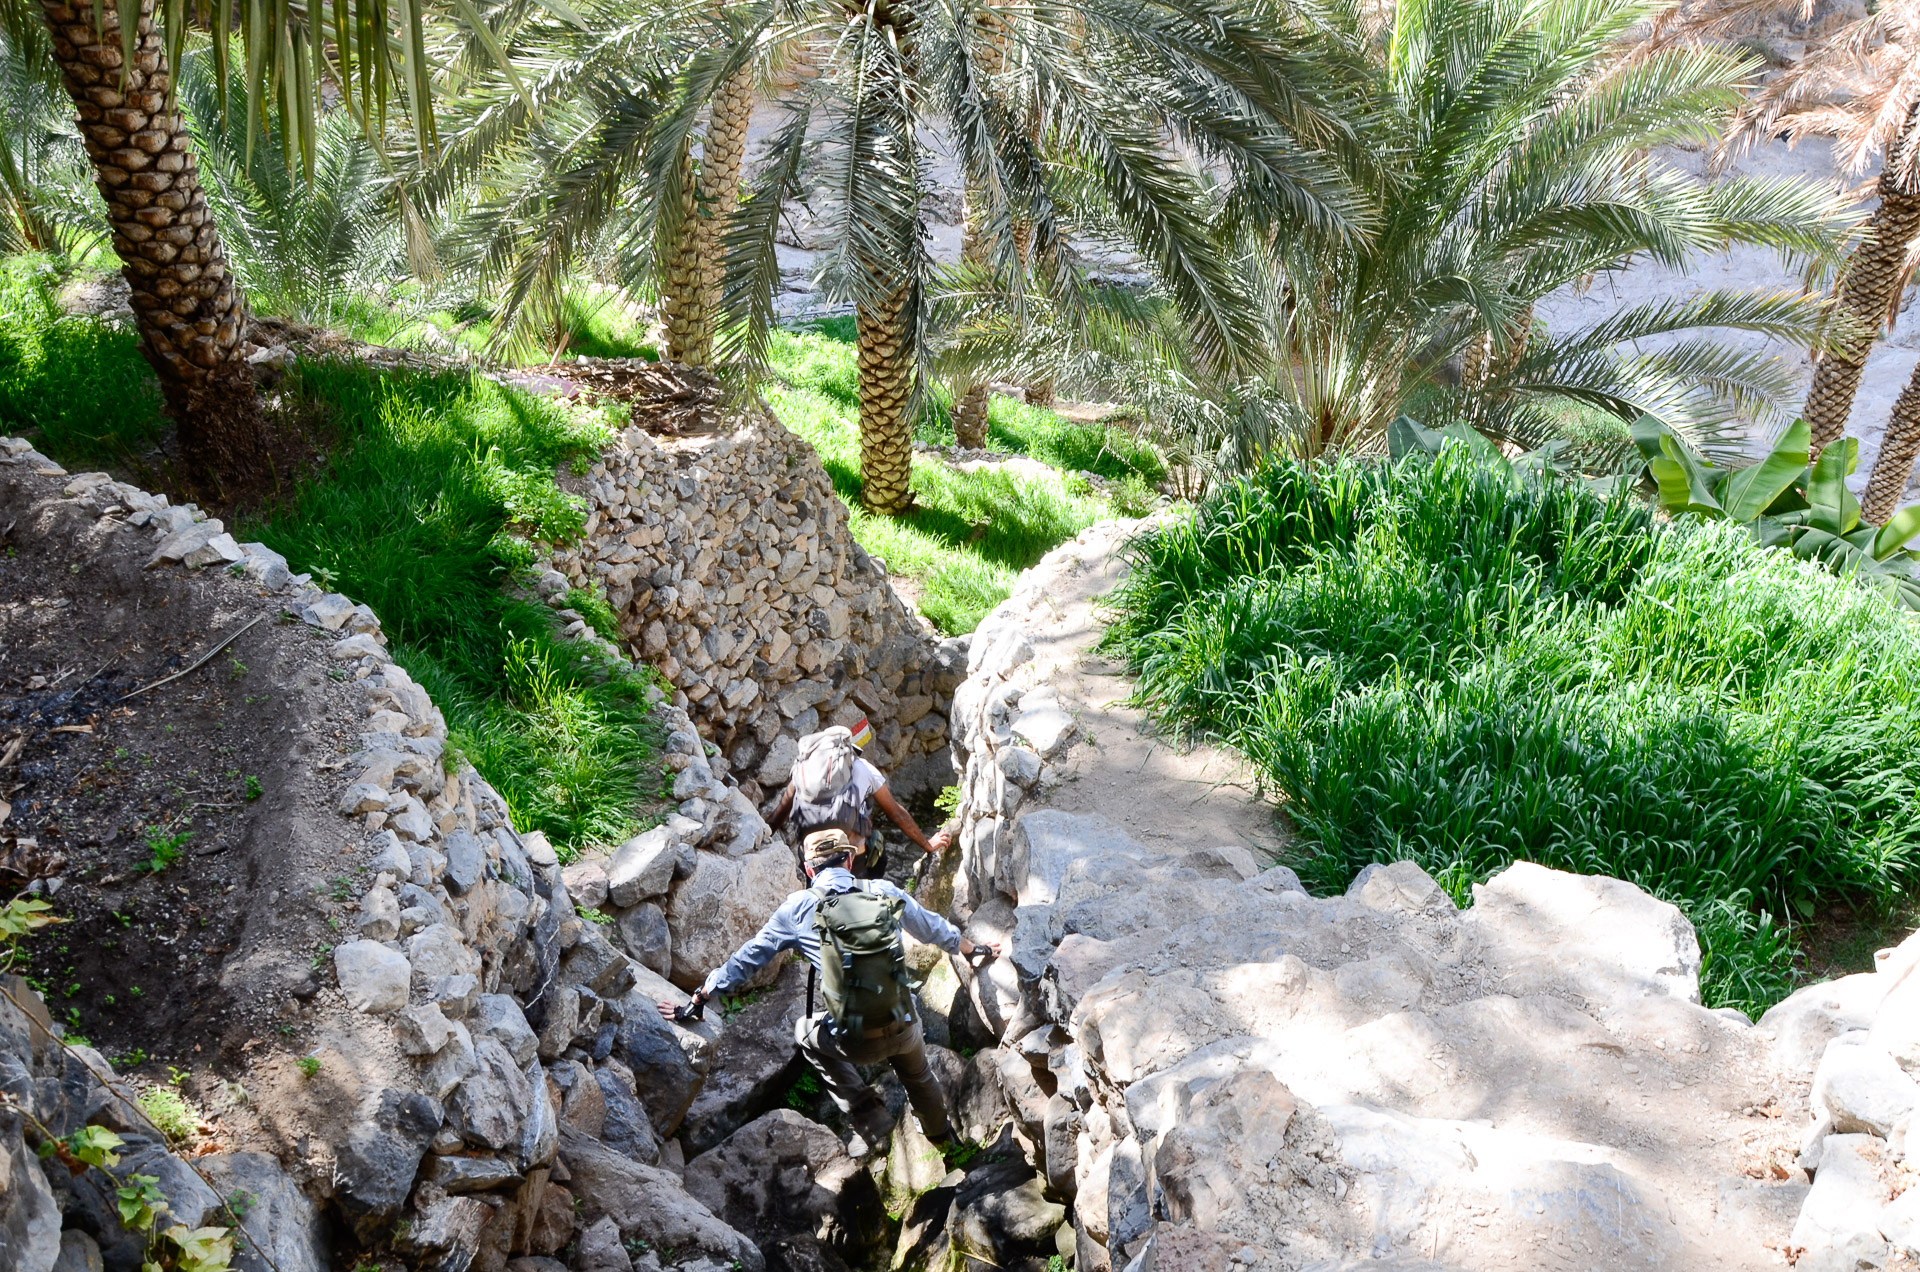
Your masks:
<svg viewBox="0 0 1920 1272"><path fill-rule="evenodd" d="M764 1270L760 1249L689 1197L670 1170L643 1166L572 1130L561 1134L561 1162L589 1226L605 1216L624 1239L670 1247L682 1259L705 1255L722 1264L737 1260L745 1272Z"/></svg>

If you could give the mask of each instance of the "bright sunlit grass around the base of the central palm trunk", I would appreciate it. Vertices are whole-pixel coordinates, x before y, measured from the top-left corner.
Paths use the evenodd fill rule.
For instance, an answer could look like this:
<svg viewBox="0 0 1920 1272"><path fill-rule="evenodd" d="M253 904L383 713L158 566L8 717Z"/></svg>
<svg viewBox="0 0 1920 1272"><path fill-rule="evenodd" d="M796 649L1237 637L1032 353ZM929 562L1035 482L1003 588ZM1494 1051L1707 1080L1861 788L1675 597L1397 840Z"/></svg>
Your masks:
<svg viewBox="0 0 1920 1272"><path fill-rule="evenodd" d="M960 473L916 455L912 490L920 511L868 517L858 505L860 379L852 319L776 332L768 361L778 380L766 390L774 415L820 453L835 492L851 507L852 536L885 559L889 571L920 586L920 611L943 632L972 632L1014 590L1020 571L1114 515L1083 480L1058 471L996 465ZM995 428L1025 430L1020 436L1041 452L1043 463L1046 455L1068 453L1064 438L1075 436L1052 411L1012 402L995 402L991 419ZM929 413L920 440L952 444L952 428L943 415ZM1085 438L1075 444L1092 446ZM1123 444L1119 434L1116 453Z"/></svg>

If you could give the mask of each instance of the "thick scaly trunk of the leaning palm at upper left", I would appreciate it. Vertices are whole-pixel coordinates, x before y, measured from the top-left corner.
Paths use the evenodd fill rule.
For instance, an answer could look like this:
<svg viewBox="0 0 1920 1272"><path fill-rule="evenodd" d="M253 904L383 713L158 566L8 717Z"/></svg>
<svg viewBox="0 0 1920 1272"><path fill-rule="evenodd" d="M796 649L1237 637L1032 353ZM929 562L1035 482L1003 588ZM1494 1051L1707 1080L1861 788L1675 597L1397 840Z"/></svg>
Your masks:
<svg viewBox="0 0 1920 1272"><path fill-rule="evenodd" d="M140 4L131 65L123 65L115 6L104 4L98 15L61 0L42 0L42 8L132 286L140 352L159 377L180 455L196 477L259 480L267 428L242 357L246 300L227 271L173 102L154 0Z"/></svg>

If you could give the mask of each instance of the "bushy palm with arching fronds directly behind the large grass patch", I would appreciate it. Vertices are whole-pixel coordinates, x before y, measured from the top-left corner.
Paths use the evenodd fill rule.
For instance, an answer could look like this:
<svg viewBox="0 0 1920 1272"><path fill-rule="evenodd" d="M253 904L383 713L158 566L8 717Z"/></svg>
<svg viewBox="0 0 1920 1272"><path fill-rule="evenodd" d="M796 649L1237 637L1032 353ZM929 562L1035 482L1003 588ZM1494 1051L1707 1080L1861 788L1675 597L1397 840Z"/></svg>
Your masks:
<svg viewBox="0 0 1920 1272"><path fill-rule="evenodd" d="M1836 252L1843 206L1807 183L1699 184L1653 148L1716 135L1749 63L1684 48L1617 58L1657 4L1584 0L1407 2L1367 50L1365 150L1354 181L1379 227L1365 238L1298 234L1217 192L1219 227L1261 319L1265 365L1240 379L1167 357L1164 327L1058 342L1062 377L1140 392L1173 419L1206 421L1227 465L1273 450L1302 457L1377 450L1405 411L1471 419L1536 444L1569 405L1624 421L1651 411L1713 440L1734 407L1780 405L1776 359L1715 329L1812 340L1824 306L1797 294L1705 292L1549 332L1534 304L1640 256L1680 265L1734 242L1811 257ZM1137 327L1137 323L1133 325ZM1071 325L1066 327L1071 330ZM987 355L1010 340L991 327ZM1152 361L1142 363L1140 352ZM1187 405L1171 409L1169 402Z"/></svg>

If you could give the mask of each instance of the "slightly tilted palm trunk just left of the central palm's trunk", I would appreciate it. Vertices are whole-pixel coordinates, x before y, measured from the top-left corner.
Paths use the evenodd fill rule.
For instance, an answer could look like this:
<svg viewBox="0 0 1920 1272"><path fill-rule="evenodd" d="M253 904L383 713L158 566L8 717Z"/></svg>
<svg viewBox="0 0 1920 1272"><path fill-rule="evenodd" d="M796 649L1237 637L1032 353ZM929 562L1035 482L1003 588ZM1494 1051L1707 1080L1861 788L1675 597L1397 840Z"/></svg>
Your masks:
<svg viewBox="0 0 1920 1272"><path fill-rule="evenodd" d="M726 273L726 223L739 206L739 169L753 121L753 73L741 67L714 92L693 202L668 263L666 355L693 367L712 363L714 311ZM691 158L687 159L691 163Z"/></svg>

